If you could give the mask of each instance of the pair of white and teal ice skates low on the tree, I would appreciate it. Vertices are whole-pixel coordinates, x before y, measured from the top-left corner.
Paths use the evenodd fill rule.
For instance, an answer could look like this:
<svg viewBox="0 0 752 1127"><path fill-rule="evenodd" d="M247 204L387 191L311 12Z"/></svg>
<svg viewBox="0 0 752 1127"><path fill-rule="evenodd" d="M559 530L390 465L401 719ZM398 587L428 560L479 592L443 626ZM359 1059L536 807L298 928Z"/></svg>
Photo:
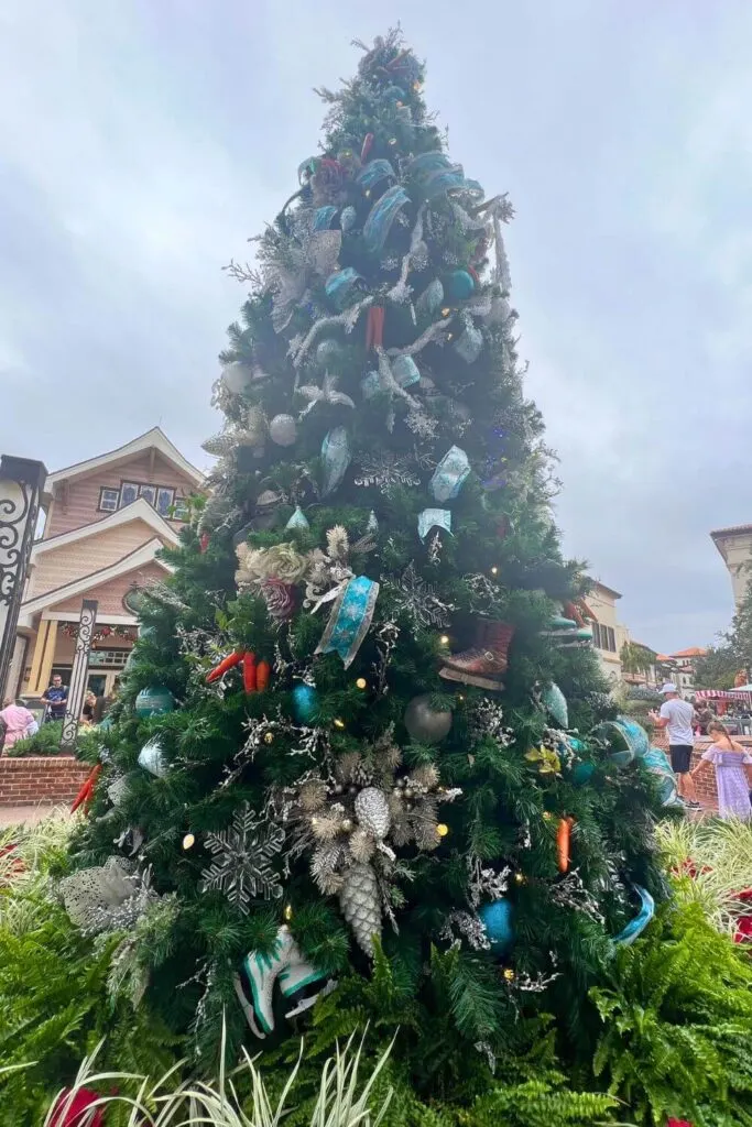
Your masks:
<svg viewBox="0 0 752 1127"><path fill-rule="evenodd" d="M324 983L327 977L322 970L317 970L309 962L294 939L290 929L283 924L277 931L272 951L263 955L250 951L242 960L242 973L248 984L253 1004L246 996L241 975L235 976L235 990L238 1001L251 1031L260 1040L274 1030L274 984L280 984L280 993L284 999L293 1000L293 995L315 983ZM322 993L329 993L335 987L334 982L326 983L319 991L308 997L300 999L298 1004L285 1013L285 1018L294 1018L310 1009Z"/></svg>

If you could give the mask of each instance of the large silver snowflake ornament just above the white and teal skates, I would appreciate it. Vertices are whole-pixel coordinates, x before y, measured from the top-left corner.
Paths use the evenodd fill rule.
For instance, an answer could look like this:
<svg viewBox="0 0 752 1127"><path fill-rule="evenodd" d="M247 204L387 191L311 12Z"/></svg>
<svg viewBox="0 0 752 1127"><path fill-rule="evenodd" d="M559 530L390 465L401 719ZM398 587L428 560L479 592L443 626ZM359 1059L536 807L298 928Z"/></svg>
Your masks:
<svg viewBox="0 0 752 1127"><path fill-rule="evenodd" d="M246 802L236 810L228 829L207 835L205 845L214 860L201 875L201 890L220 889L244 915L251 899L278 899L282 885L272 862L282 851L284 837L281 826L257 819Z"/></svg>

